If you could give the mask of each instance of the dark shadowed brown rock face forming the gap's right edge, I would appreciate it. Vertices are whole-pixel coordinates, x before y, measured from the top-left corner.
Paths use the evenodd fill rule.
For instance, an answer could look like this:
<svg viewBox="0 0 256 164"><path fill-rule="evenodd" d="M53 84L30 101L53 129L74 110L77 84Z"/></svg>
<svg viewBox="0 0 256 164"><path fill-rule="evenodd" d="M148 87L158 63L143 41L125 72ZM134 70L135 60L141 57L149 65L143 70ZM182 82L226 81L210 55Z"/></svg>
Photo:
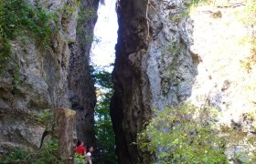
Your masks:
<svg viewBox="0 0 256 164"><path fill-rule="evenodd" d="M120 163L140 160L132 142L151 116L151 95L146 76L146 0L120 1L118 43L112 72L114 95L111 102L112 124ZM133 59L130 60L129 58Z"/></svg>

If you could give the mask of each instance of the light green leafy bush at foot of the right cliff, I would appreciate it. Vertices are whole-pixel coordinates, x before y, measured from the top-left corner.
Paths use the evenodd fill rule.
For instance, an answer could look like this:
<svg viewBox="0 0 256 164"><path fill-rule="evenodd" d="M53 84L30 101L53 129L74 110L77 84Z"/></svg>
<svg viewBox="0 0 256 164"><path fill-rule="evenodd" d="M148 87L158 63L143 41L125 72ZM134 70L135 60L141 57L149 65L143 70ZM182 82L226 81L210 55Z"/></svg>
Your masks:
<svg viewBox="0 0 256 164"><path fill-rule="evenodd" d="M139 149L155 154L161 163L227 163L216 116L214 108L166 108L138 134Z"/></svg>

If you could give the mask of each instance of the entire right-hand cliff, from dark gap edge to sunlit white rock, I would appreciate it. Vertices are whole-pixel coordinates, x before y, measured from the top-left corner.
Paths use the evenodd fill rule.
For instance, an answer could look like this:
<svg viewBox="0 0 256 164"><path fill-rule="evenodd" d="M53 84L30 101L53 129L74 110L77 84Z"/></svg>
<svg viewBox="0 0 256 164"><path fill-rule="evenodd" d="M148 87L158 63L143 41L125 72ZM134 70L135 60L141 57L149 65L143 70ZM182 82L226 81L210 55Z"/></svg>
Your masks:
<svg viewBox="0 0 256 164"><path fill-rule="evenodd" d="M121 163L148 160L133 144L136 133L154 109L180 102L219 108L220 122L255 133L255 54L245 41L255 27L238 17L248 4L208 2L118 1L111 114Z"/></svg>

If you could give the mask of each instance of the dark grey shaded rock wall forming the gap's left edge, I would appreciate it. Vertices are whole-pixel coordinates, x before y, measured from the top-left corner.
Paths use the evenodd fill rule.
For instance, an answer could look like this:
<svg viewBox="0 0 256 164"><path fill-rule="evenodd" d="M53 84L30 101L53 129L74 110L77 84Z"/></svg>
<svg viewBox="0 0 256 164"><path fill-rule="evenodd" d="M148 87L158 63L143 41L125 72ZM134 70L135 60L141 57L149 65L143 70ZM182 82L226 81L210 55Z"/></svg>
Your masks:
<svg viewBox="0 0 256 164"><path fill-rule="evenodd" d="M99 0L81 1L76 42L70 43L69 98L71 108L77 111L78 139L86 145L95 144L94 107L96 94L90 72L90 50L93 29L97 20Z"/></svg>

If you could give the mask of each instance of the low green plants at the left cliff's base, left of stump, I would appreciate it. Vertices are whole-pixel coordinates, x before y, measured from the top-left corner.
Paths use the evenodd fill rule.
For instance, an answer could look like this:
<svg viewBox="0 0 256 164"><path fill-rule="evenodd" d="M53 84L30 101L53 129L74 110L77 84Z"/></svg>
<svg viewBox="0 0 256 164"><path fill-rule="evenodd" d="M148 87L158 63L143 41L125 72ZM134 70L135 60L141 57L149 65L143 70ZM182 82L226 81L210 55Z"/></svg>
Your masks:
<svg viewBox="0 0 256 164"><path fill-rule="evenodd" d="M9 149L9 152L0 160L1 163L63 163L63 159L60 159L58 154L58 140L54 137L48 138L42 149L33 151L18 148Z"/></svg>

